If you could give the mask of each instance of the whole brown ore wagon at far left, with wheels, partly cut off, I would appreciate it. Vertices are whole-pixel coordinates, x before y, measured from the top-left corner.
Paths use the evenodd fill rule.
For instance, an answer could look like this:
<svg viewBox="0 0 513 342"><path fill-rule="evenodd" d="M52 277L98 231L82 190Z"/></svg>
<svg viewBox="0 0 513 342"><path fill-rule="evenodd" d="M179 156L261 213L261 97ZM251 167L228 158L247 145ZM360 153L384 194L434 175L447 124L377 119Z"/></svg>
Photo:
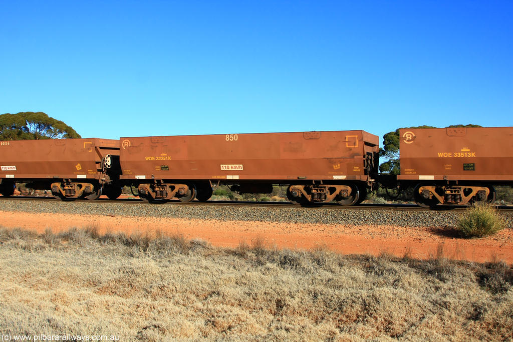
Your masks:
<svg viewBox="0 0 513 342"><path fill-rule="evenodd" d="M51 189L62 199L109 198L121 194L119 140L42 139L0 142L0 192L10 196L15 183Z"/></svg>

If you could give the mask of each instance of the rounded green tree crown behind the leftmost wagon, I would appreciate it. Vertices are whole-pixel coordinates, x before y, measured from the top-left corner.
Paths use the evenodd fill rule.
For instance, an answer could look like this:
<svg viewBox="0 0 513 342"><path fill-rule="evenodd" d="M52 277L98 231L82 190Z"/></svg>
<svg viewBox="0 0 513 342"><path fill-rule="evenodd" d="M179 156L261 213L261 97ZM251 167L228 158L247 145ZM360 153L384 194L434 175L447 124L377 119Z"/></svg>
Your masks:
<svg viewBox="0 0 513 342"><path fill-rule="evenodd" d="M80 138L73 128L43 112L0 115L0 140Z"/></svg>

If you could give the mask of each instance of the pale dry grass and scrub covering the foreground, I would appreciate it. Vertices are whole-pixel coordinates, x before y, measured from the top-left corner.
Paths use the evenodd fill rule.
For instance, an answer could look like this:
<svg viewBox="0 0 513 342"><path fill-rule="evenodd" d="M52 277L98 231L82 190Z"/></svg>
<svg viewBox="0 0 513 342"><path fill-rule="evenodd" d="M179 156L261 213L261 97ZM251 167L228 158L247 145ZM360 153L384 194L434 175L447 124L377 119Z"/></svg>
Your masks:
<svg viewBox="0 0 513 342"><path fill-rule="evenodd" d="M513 270L387 253L233 250L176 233L0 229L0 331L123 341L507 341Z"/></svg>

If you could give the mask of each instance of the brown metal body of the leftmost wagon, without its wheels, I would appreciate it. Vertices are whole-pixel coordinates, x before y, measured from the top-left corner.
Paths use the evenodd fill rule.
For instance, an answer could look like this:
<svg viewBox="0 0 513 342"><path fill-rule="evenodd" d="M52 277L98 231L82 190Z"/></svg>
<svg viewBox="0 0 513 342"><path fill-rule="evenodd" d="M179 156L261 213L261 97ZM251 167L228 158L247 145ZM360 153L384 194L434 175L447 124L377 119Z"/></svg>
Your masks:
<svg viewBox="0 0 513 342"><path fill-rule="evenodd" d="M44 139L0 142L0 178L14 182L41 179L99 180L102 159L119 158L119 140Z"/></svg>

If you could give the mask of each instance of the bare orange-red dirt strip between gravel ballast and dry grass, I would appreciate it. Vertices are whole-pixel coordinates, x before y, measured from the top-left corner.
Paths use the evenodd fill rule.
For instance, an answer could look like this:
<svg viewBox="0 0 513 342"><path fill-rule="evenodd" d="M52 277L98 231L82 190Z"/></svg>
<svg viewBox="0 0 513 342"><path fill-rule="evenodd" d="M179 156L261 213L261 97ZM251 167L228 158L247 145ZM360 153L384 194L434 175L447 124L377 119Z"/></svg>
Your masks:
<svg viewBox="0 0 513 342"><path fill-rule="evenodd" d="M311 249L325 247L343 254L388 253L414 258L447 257L472 261L498 261L513 264L513 230L479 239L461 239L443 229L397 226L344 226L272 222L218 221L158 217L113 217L103 215L30 214L0 211L1 225L7 228L54 232L71 227L94 225L101 233L153 234L161 230L186 238L200 238L213 246L252 245L255 239L267 247Z"/></svg>

